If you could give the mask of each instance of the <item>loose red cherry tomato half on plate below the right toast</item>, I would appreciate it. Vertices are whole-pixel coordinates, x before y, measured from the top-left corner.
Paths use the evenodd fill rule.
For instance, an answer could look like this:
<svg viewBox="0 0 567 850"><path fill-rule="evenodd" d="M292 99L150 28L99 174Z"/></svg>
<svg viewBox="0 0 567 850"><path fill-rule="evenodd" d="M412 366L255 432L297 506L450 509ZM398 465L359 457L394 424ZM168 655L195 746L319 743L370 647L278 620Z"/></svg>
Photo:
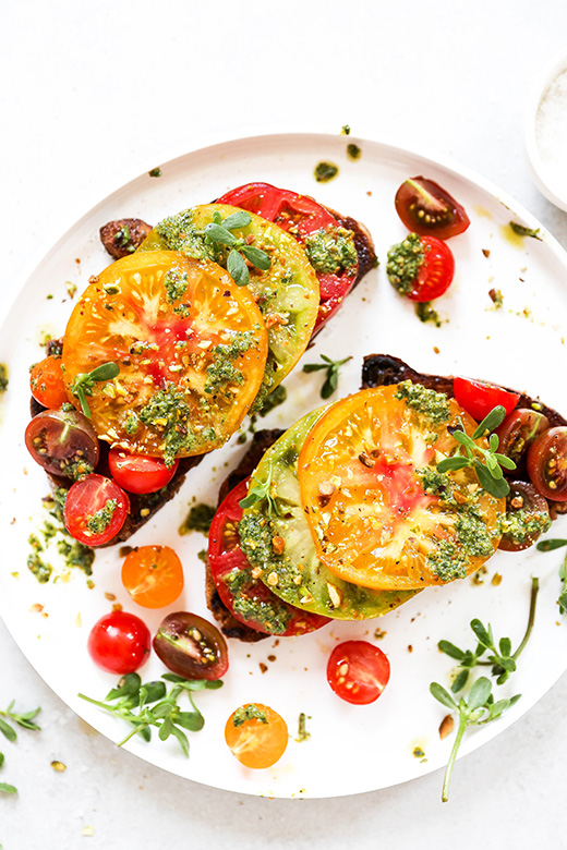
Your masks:
<svg viewBox="0 0 567 850"><path fill-rule="evenodd" d="M337 696L354 705L375 702L389 680L389 661L367 641L335 646L327 663L327 681Z"/></svg>

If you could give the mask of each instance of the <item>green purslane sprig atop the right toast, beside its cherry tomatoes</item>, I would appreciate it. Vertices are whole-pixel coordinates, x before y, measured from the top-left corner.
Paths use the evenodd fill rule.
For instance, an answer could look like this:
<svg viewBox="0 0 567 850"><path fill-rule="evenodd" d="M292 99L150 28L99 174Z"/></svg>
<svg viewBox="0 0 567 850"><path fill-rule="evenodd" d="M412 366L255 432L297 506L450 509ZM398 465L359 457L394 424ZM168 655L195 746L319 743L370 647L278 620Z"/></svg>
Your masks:
<svg viewBox="0 0 567 850"><path fill-rule="evenodd" d="M450 470L462 470L466 466L472 466L481 487L497 499L507 496L510 487L504 477L503 467L505 470L515 470L516 464L505 454L498 453L499 438L497 434L492 434L504 422L506 410L502 404L493 408L478 426L472 437L469 437L466 433L462 420L458 417L458 427L451 428L450 434L459 444L459 448L450 458L444 458L439 461L437 470L439 472L449 472ZM488 437L487 449L483 449L474 442L480 437Z"/></svg>

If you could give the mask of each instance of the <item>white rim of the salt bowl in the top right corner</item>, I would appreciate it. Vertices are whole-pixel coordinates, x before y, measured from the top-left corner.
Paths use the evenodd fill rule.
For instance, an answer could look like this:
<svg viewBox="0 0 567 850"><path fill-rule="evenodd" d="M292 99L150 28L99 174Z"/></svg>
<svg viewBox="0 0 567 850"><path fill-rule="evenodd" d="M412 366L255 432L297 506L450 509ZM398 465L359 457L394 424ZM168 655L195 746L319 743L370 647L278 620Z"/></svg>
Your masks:
<svg viewBox="0 0 567 850"><path fill-rule="evenodd" d="M536 116L540 104L553 81L564 71L567 71L567 54L565 53L555 57L542 75L538 77L526 110L523 137L528 161L538 189L552 204L567 211L567 190L564 186L557 186L552 169L542 159L536 137Z"/></svg>

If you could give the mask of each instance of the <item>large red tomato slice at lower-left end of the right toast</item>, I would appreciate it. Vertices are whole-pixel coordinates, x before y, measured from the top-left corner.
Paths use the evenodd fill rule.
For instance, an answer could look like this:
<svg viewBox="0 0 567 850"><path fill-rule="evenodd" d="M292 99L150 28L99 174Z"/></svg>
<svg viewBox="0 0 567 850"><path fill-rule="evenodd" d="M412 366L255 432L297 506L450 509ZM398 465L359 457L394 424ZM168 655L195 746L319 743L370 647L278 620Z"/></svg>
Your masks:
<svg viewBox="0 0 567 850"><path fill-rule="evenodd" d="M237 620L264 634L288 638L321 629L329 622L327 617L288 605L260 578L253 578L238 533L243 512L240 502L246 496L249 481L228 494L210 524L208 562L218 595Z"/></svg>

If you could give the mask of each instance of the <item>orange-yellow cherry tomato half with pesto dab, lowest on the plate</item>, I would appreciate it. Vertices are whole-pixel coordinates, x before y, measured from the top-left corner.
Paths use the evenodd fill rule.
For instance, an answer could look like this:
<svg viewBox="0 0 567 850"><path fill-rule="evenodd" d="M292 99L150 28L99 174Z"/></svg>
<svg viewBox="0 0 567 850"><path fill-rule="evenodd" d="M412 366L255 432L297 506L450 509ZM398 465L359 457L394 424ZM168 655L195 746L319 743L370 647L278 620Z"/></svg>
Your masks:
<svg viewBox="0 0 567 850"><path fill-rule="evenodd" d="M267 705L249 703L232 712L225 727L230 752L244 767L272 767L286 752L288 727Z"/></svg>

